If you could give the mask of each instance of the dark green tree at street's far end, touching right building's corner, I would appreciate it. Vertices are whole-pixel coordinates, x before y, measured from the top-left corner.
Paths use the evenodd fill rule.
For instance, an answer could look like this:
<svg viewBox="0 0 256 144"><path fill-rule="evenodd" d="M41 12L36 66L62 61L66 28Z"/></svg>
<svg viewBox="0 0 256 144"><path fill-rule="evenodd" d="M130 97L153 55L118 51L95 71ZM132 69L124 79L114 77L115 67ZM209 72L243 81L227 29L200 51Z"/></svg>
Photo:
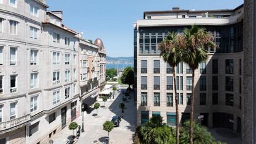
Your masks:
<svg viewBox="0 0 256 144"><path fill-rule="evenodd" d="M134 84L134 69L132 67L126 67L121 75L121 82L127 85Z"/></svg>

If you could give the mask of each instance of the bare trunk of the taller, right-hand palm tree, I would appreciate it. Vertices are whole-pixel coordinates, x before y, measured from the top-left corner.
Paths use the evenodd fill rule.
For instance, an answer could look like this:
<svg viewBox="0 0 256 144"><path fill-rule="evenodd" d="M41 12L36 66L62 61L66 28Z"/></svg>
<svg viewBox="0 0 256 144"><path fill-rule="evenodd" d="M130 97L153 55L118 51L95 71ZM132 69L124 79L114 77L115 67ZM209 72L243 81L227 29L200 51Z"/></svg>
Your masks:
<svg viewBox="0 0 256 144"><path fill-rule="evenodd" d="M191 108L190 108L190 127L189 127L189 142L193 144L193 119L194 119L194 101L195 101L195 89L194 89L194 78L195 78L195 70L192 69L192 93L191 93Z"/></svg>

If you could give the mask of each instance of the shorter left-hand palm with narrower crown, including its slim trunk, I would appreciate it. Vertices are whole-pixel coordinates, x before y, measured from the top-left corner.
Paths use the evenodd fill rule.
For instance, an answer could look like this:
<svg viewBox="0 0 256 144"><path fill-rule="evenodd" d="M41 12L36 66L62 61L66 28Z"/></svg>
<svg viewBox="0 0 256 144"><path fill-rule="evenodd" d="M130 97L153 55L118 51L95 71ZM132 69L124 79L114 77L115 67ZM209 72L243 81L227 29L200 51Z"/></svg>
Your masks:
<svg viewBox="0 0 256 144"><path fill-rule="evenodd" d="M176 143L179 144L179 105L176 88L176 73L175 67L182 61L182 49L177 46L176 33L169 33L168 36L159 44L160 56L163 57L165 62L168 62L169 66L173 68L173 81L174 81L174 95L176 106Z"/></svg>

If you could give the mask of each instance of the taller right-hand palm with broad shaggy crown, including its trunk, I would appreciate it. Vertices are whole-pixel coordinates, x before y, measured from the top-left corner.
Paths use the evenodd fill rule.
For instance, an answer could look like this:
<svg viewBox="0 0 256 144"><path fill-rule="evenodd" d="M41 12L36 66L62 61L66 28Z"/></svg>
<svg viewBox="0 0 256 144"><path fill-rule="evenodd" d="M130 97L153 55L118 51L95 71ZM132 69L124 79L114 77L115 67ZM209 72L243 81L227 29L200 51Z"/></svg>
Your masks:
<svg viewBox="0 0 256 144"><path fill-rule="evenodd" d="M190 129L189 139L190 144L193 143L193 117L194 117L194 77L195 69L198 68L200 62L207 61L208 51L205 48L215 46L213 36L208 33L205 28L199 28L197 25L192 25L190 29L184 29L183 35L179 37L178 45L184 50L183 61L186 62L192 70L192 93L191 93L191 108L190 108Z"/></svg>

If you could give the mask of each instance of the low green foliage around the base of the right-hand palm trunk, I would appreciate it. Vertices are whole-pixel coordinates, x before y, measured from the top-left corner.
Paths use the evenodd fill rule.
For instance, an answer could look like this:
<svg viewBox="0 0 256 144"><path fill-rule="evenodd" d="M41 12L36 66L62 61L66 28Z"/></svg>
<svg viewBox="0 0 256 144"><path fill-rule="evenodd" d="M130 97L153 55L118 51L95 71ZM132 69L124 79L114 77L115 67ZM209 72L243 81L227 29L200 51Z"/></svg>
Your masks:
<svg viewBox="0 0 256 144"><path fill-rule="evenodd" d="M193 129L194 129L194 135L193 135L193 142L195 144L201 144L201 143L209 143L209 144L215 144L215 139L211 135L210 132L207 131L205 127L203 127L198 122L193 122ZM190 121L186 121L184 123L184 126L182 127L181 132L181 144L187 144L190 142L189 138L189 130L190 130Z"/></svg>

